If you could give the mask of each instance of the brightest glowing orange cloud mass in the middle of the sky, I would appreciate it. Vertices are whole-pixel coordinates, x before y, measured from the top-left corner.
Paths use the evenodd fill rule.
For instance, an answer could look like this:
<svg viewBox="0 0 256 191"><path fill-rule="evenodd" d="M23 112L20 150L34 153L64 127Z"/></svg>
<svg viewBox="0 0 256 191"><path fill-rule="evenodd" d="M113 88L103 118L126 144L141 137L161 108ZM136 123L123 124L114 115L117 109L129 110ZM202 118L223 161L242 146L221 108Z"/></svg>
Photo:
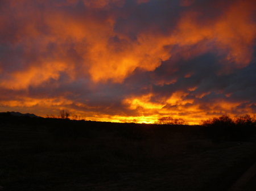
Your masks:
<svg viewBox="0 0 256 191"><path fill-rule="evenodd" d="M93 65L90 67L92 79L96 82L112 79L121 83L137 67L152 71L170 57L158 39L150 40L147 36L139 36L138 42L135 44L129 42L130 45L123 52L117 53L108 50L106 44L96 43L97 48L90 51L93 60Z"/></svg>

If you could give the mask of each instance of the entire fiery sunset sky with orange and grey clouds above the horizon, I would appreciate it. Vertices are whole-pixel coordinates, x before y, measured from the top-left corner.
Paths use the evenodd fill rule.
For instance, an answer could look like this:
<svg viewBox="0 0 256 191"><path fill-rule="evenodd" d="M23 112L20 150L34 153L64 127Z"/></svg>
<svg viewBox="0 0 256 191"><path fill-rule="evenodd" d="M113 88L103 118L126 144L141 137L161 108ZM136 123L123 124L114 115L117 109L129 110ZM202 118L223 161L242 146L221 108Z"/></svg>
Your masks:
<svg viewBox="0 0 256 191"><path fill-rule="evenodd" d="M254 0L0 1L0 112L193 125L255 95Z"/></svg>

